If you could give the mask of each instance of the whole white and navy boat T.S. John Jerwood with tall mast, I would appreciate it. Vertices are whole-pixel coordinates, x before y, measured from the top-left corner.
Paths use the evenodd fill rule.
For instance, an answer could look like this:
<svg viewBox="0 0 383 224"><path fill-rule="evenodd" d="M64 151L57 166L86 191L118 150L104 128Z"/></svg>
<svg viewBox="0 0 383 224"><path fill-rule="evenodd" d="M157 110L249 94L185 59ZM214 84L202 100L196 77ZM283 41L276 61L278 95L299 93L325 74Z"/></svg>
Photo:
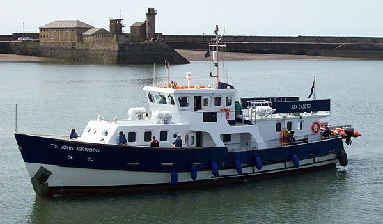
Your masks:
<svg viewBox="0 0 383 224"><path fill-rule="evenodd" d="M220 46L216 26L214 85L192 85L187 73L188 85L178 86L168 76L164 86L143 88L150 111L131 108L125 120L99 115L78 138L15 133L36 194L189 189L347 165L342 138L320 131L329 99L237 98L219 81ZM127 145L116 144L120 131ZM288 131L296 143L284 141ZM179 135L182 147L173 147ZM159 147L150 147L153 136Z"/></svg>

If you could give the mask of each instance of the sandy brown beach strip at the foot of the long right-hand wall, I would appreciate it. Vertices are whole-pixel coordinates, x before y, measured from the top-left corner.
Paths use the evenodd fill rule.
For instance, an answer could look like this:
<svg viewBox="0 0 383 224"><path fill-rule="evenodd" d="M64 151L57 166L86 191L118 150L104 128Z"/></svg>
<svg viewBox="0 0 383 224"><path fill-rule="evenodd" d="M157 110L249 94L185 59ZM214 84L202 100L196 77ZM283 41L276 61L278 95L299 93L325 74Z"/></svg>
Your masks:
<svg viewBox="0 0 383 224"><path fill-rule="evenodd" d="M205 51L191 51L191 50L175 50L189 61L210 61L210 58L205 58ZM291 54L252 54L252 53L233 53L233 52L220 52L221 60L226 61L240 61L240 60L281 60L281 59L358 59L358 58L338 58L338 57L324 57L324 56L308 56L308 55L291 55Z"/></svg>

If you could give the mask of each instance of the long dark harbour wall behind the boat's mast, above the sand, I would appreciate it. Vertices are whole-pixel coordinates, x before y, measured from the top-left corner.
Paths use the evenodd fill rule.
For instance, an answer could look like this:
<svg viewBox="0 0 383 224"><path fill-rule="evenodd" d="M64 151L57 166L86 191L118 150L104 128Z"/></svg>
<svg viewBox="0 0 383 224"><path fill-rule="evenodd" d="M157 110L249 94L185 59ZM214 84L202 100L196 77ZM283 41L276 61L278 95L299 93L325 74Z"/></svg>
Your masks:
<svg viewBox="0 0 383 224"><path fill-rule="evenodd" d="M206 50L210 37L164 35L164 40L174 49ZM221 41L230 52L383 58L383 38L224 36Z"/></svg>

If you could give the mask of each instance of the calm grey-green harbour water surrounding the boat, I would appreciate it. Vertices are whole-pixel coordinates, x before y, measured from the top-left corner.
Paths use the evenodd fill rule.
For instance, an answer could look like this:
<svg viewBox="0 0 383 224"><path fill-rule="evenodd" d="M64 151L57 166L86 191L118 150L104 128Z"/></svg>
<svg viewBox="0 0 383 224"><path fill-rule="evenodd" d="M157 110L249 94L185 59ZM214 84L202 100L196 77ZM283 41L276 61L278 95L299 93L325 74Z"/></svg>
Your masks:
<svg viewBox="0 0 383 224"><path fill-rule="evenodd" d="M98 114L127 118L147 106L150 65L0 63L0 223L381 223L383 220L383 61L229 61L242 97L331 99L325 121L361 133L345 145L349 165L219 188L156 193L36 197L13 136L69 135ZM171 79L210 84L210 64L171 66ZM157 81L166 70L157 65ZM147 108L148 109L148 108Z"/></svg>

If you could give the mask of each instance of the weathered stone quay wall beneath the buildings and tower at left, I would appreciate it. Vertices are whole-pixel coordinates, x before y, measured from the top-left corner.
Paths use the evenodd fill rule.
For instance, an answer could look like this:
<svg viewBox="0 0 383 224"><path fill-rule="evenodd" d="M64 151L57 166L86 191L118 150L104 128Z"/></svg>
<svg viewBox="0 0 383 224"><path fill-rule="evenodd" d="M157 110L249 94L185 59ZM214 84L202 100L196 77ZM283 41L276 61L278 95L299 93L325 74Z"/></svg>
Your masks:
<svg viewBox="0 0 383 224"><path fill-rule="evenodd" d="M1 54L104 64L189 63L163 40L147 43L0 42Z"/></svg>

